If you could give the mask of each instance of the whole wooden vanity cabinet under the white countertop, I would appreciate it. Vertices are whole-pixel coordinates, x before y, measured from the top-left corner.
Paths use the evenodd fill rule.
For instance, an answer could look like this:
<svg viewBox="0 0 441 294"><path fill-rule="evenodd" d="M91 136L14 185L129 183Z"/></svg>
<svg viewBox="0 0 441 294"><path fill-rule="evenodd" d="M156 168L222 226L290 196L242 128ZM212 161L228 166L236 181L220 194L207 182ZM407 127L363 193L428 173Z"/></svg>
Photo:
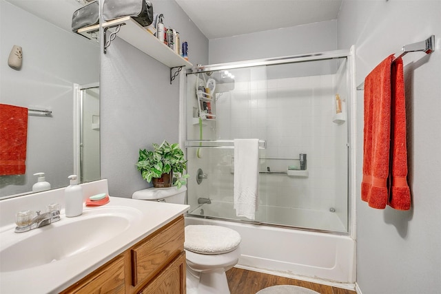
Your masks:
<svg viewBox="0 0 441 294"><path fill-rule="evenodd" d="M61 293L185 293L184 218L179 216Z"/></svg>

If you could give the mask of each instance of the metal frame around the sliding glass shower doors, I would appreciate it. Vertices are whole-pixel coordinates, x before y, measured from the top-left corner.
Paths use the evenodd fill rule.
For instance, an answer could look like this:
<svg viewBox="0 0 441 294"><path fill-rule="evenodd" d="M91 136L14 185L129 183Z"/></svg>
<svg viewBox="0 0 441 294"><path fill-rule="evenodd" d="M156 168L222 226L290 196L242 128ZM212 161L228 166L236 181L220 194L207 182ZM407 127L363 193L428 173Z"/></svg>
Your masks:
<svg viewBox="0 0 441 294"><path fill-rule="evenodd" d="M334 50L329 52L316 52L311 54L298 54L294 56L280 56L267 59L255 59L249 61L236 61L230 63L217 63L212 65L196 65L186 70L185 74L180 74L179 83L179 143L181 147L187 146L187 122L186 122L186 101L185 94L187 93L187 75L198 74L203 72L212 72L218 70L232 70L244 67L256 67L266 65L283 65L287 63L302 63L309 61L325 61L331 59L346 59L347 60L347 214L348 224L347 232L341 231L326 231L322 229L310 229L305 227L284 226L280 224L267 224L263 222L254 222L252 220L234 220L226 218L216 218L212 216L201 216L201 218L208 218L214 220L225 220L230 222L245 222L248 224L264 225L269 227L281 227L289 229L298 229L302 231L312 231L318 233L330 233L332 235L349 235L353 240L356 240L356 76L355 76L355 47L351 46L350 50ZM350 122L350 123L349 123ZM185 148L187 153L187 148ZM188 190L186 196L186 203L188 203ZM187 215L187 213L186 213ZM198 217L193 216L192 217Z"/></svg>

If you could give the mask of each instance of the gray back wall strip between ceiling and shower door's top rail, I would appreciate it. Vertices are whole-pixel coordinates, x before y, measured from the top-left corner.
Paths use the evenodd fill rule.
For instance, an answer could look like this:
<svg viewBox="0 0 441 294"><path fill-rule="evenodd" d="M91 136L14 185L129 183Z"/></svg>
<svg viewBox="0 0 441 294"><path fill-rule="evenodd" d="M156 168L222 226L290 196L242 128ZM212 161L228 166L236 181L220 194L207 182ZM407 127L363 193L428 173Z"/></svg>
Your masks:
<svg viewBox="0 0 441 294"><path fill-rule="evenodd" d="M336 49L337 21L322 21L209 40L209 64Z"/></svg>

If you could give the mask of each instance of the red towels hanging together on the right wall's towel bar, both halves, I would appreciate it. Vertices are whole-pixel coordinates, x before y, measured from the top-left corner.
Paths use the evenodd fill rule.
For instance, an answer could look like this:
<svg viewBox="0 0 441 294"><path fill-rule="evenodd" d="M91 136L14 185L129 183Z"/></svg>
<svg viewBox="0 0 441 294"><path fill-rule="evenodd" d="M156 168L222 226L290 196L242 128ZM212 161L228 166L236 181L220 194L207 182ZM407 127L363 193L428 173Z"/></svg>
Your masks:
<svg viewBox="0 0 441 294"><path fill-rule="evenodd" d="M406 105L402 59L384 59L365 79L361 198L370 207L408 210Z"/></svg>

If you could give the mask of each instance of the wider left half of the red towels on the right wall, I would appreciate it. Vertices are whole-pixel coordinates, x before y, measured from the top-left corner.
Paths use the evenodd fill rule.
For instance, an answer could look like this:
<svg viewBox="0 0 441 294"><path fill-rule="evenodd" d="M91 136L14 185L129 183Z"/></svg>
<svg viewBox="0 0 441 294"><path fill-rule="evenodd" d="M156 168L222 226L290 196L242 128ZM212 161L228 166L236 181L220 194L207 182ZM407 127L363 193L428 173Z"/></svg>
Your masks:
<svg viewBox="0 0 441 294"><path fill-rule="evenodd" d="M365 78L361 199L376 209L384 209L388 202L392 60L393 55L388 56Z"/></svg>

